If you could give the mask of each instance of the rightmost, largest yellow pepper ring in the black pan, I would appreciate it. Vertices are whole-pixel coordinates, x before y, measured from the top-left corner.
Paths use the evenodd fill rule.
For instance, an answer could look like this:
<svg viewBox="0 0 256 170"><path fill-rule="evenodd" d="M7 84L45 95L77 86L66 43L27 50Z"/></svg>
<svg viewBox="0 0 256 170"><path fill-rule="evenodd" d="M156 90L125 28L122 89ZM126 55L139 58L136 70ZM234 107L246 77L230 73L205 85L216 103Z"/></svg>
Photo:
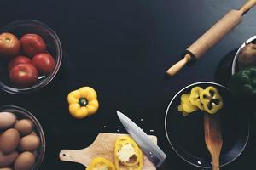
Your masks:
<svg viewBox="0 0 256 170"><path fill-rule="evenodd" d="M218 94L217 88L212 86L207 87L201 92L200 99L204 110L210 114L216 113L223 107L222 97Z"/></svg>

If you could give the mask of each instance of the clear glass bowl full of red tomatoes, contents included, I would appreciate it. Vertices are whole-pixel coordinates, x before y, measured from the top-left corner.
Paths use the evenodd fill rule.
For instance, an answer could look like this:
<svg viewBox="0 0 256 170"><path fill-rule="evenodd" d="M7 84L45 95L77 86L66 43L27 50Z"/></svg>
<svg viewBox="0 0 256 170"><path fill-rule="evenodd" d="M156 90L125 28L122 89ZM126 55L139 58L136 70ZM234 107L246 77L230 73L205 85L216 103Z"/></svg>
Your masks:
<svg viewBox="0 0 256 170"><path fill-rule="evenodd" d="M0 30L0 88L28 94L45 87L61 66L61 41L37 20L18 20Z"/></svg>

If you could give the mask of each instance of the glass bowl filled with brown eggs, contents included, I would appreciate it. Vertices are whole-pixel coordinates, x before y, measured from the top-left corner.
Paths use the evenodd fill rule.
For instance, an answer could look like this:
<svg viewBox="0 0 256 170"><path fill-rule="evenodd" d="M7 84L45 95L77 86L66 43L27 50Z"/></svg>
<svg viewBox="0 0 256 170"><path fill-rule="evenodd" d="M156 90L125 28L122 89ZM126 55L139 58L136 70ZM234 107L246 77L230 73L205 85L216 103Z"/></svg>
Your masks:
<svg viewBox="0 0 256 170"><path fill-rule="evenodd" d="M1 106L0 169L38 169L44 152L44 131L37 118L18 106Z"/></svg>

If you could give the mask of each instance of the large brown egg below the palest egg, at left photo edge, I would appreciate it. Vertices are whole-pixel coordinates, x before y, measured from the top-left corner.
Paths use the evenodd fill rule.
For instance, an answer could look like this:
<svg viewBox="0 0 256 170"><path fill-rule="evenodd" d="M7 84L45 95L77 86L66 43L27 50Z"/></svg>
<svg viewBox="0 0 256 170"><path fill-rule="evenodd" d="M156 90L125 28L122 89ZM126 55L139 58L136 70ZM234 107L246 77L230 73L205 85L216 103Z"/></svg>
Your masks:
<svg viewBox="0 0 256 170"><path fill-rule="evenodd" d="M14 128L6 130L0 137L0 150L4 154L14 151L20 143L20 133Z"/></svg>

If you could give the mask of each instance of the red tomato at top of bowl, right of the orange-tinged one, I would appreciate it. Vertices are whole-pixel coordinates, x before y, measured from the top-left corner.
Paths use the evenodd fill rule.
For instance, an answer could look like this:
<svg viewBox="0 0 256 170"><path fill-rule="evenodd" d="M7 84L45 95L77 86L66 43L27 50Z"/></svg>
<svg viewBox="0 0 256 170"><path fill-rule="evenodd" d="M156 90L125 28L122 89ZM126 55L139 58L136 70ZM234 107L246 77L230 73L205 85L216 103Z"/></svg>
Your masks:
<svg viewBox="0 0 256 170"><path fill-rule="evenodd" d="M46 45L42 37L37 34L25 34L20 38L20 45L27 56L34 56L45 51Z"/></svg>

